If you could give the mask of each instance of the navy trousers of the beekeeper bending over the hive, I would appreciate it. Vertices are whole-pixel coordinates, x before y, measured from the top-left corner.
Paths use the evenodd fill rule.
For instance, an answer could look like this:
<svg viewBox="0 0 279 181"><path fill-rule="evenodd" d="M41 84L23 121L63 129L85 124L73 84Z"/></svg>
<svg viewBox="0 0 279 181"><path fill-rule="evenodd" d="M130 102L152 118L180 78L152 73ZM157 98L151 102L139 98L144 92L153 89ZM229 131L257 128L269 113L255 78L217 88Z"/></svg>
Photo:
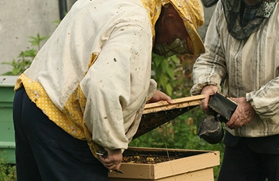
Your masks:
<svg viewBox="0 0 279 181"><path fill-rule="evenodd" d="M107 181L107 168L31 102L24 88L13 104L17 181Z"/></svg>

